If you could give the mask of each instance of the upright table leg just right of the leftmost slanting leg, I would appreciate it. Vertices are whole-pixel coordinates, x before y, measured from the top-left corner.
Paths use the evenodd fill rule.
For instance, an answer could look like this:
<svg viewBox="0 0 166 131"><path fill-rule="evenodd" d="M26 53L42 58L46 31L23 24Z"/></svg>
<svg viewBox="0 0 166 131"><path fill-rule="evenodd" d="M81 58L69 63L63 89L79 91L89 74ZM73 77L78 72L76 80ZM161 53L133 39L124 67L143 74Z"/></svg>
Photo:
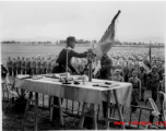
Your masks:
<svg viewBox="0 0 166 131"><path fill-rule="evenodd" d="M38 111L38 93L35 93L35 121L34 121L34 128L35 131L37 131L37 111Z"/></svg>

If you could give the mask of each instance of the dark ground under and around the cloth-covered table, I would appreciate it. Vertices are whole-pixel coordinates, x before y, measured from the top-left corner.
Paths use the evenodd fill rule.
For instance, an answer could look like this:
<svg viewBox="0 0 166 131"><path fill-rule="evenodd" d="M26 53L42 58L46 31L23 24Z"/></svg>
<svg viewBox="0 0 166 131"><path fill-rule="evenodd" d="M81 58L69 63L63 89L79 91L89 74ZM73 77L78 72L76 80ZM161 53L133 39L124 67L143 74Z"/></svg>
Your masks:
<svg viewBox="0 0 166 131"><path fill-rule="evenodd" d="M145 96L151 97L151 92L146 91ZM10 110L8 112L5 112L7 104L8 103L5 100L2 100L2 129L3 130L21 130L21 124L22 124L24 114L14 110L12 107L10 108ZM144 107L145 103L140 102L139 105ZM157 106L159 107L158 102L157 102ZM146 107L151 107L150 104L146 105ZM134 121L134 120L139 121L139 114L140 114L140 109L137 109L137 111L134 114L132 114L131 121ZM118 114L116 111L115 116L117 116L117 115ZM128 122L130 120L130 109L127 107L124 107L123 117L124 117L126 122ZM140 121L149 121L149 117L150 117L150 111L143 110L141 114ZM155 118L154 123L158 119ZM32 115L28 115L27 121L25 124L25 130L33 130L33 124L34 124L34 118ZM64 126L60 126L59 119L55 119L52 122L50 122L49 121L49 110L44 109L44 108L38 109L38 130L80 130L78 128L78 126L79 126L79 119L75 117L69 117L69 116L64 117ZM102 119L102 109L99 111L99 120L98 120L97 128L100 130L106 129L106 124ZM87 123L84 126L83 129L90 130L90 129L92 129L92 124ZM120 129L120 127L110 124L110 129Z"/></svg>

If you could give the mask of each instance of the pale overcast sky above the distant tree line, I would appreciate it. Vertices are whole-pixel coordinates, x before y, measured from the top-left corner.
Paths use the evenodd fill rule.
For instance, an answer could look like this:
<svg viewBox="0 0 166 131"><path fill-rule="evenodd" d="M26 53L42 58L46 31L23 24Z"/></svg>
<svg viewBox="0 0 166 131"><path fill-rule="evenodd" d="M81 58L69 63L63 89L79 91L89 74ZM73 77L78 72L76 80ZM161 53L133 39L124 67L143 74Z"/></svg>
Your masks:
<svg viewBox="0 0 166 131"><path fill-rule="evenodd" d="M164 1L0 1L0 35L98 40L118 10L116 39L165 37Z"/></svg>

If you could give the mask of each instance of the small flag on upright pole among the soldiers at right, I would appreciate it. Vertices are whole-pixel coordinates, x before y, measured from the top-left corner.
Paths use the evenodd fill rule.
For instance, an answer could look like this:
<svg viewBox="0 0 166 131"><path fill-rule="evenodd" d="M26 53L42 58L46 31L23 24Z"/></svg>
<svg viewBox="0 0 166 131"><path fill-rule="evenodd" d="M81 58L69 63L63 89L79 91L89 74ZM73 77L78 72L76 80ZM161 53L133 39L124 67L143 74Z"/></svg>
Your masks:
<svg viewBox="0 0 166 131"><path fill-rule="evenodd" d="M147 55L143 58L142 66L147 72L150 72L150 70L151 70L151 46L150 46Z"/></svg>

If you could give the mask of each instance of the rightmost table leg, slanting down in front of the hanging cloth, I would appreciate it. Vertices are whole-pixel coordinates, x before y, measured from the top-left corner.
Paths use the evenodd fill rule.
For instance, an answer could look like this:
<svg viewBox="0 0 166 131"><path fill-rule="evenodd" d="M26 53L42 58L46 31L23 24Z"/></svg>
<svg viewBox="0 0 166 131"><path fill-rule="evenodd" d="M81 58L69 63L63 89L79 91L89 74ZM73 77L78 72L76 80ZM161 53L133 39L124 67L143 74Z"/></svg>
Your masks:
<svg viewBox="0 0 166 131"><path fill-rule="evenodd" d="M116 90L114 90L112 92L114 92L114 95L115 95L115 99L116 99L116 104L117 104L117 109L118 109L120 122L124 122L124 121L123 121L123 117L122 117L122 115L121 115L121 109L120 109L120 105L119 105L119 100L118 100L118 97L117 97ZM121 128L122 128L122 129L126 129L126 128L124 128L124 123L121 124Z"/></svg>

